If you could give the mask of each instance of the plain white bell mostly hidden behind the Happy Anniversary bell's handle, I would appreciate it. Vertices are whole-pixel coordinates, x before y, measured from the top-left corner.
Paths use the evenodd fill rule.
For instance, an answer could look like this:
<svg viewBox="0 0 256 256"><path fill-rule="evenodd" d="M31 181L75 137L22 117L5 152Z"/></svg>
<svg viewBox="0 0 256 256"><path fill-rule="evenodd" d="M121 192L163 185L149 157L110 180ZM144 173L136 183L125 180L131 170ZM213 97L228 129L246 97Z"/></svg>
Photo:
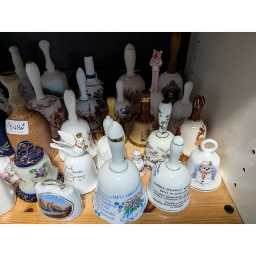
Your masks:
<svg viewBox="0 0 256 256"><path fill-rule="evenodd" d="M98 170L100 169L101 165L105 161L112 159L112 154L111 154L111 150L110 150L108 137L106 136L109 126L112 122L114 122L114 120L110 116L106 116L105 119L103 120L103 127L104 127L105 135L98 140L97 157L95 160L96 167Z"/></svg>

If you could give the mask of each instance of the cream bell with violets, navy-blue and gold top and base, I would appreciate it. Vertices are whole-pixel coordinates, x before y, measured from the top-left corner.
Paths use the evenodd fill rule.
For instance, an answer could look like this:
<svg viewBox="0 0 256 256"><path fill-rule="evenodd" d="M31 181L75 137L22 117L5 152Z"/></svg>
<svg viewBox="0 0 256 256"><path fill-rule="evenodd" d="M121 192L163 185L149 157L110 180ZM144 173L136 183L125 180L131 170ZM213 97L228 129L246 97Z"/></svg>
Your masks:
<svg viewBox="0 0 256 256"><path fill-rule="evenodd" d="M61 170L52 165L44 148L30 141L22 141L18 144L13 163L19 177L16 193L25 202L36 202L37 182L46 178L63 181Z"/></svg>

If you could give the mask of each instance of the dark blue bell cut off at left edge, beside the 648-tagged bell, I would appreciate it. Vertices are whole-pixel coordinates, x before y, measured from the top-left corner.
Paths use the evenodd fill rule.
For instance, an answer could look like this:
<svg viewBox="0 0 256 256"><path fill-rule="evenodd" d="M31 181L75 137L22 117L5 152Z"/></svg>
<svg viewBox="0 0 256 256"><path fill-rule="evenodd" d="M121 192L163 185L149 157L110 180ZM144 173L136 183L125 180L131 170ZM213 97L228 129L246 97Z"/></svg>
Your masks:
<svg viewBox="0 0 256 256"><path fill-rule="evenodd" d="M0 110L0 155L11 156L15 153L10 140L7 137L5 126L8 115L3 110Z"/></svg>

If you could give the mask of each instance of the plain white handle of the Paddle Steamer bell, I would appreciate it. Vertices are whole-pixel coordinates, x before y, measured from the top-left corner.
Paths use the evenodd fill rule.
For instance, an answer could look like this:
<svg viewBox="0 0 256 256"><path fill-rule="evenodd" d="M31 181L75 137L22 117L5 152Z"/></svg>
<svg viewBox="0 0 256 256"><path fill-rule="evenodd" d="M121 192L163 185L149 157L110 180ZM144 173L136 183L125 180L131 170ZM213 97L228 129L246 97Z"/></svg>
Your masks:
<svg viewBox="0 0 256 256"><path fill-rule="evenodd" d="M170 143L170 159L166 162L167 168L170 170L178 170L180 168L180 155L183 151L184 139L177 135Z"/></svg>

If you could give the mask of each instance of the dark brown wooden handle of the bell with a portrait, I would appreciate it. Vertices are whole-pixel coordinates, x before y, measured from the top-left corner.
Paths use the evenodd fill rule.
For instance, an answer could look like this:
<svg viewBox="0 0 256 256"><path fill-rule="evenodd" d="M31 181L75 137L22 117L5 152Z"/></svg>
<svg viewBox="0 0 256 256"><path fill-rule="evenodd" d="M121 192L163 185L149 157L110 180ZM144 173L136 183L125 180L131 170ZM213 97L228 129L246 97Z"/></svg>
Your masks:
<svg viewBox="0 0 256 256"><path fill-rule="evenodd" d="M173 32L170 37L170 60L167 65L167 73L175 74L177 73L177 55L180 49L181 43L181 32Z"/></svg>

